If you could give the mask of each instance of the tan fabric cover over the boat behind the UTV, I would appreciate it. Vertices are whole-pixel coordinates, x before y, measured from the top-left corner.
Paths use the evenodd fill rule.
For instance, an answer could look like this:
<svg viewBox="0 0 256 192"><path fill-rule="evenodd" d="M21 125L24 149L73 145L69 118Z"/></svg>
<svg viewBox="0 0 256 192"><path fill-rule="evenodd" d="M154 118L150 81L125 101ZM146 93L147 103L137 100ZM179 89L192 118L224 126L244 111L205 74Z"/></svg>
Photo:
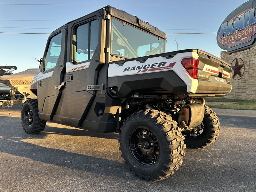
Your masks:
<svg viewBox="0 0 256 192"><path fill-rule="evenodd" d="M38 75L39 69L27 69L20 73L0 76L0 83L8 86L24 85L32 82L34 76Z"/></svg>

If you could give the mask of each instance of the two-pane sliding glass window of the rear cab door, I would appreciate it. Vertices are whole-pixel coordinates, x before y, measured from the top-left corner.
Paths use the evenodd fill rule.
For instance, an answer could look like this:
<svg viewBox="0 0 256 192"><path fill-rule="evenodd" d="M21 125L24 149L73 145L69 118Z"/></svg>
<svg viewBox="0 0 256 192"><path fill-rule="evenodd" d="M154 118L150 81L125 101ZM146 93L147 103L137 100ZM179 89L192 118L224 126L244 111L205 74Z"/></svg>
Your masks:
<svg viewBox="0 0 256 192"><path fill-rule="evenodd" d="M73 57L76 63L92 59L98 45L98 38L99 20L90 21L76 28L72 49L75 53Z"/></svg>

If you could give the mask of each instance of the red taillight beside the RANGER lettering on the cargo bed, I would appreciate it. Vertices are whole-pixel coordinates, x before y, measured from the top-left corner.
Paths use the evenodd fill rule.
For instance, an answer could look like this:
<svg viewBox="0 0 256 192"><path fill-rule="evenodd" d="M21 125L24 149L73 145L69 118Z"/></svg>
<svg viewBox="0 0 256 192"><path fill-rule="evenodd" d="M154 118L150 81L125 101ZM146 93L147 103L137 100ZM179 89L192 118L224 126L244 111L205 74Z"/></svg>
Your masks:
<svg viewBox="0 0 256 192"><path fill-rule="evenodd" d="M188 71L189 75L193 79L198 78L198 60L195 58L185 58L181 61L181 64Z"/></svg>

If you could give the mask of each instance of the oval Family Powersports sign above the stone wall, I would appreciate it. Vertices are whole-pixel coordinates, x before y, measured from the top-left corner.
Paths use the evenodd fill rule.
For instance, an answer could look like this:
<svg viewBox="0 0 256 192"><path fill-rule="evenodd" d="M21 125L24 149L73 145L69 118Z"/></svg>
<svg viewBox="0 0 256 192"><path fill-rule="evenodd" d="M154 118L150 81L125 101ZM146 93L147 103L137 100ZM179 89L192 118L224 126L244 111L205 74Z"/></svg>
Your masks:
<svg viewBox="0 0 256 192"><path fill-rule="evenodd" d="M256 38L256 0L242 4L222 22L217 43L229 53L252 47Z"/></svg>

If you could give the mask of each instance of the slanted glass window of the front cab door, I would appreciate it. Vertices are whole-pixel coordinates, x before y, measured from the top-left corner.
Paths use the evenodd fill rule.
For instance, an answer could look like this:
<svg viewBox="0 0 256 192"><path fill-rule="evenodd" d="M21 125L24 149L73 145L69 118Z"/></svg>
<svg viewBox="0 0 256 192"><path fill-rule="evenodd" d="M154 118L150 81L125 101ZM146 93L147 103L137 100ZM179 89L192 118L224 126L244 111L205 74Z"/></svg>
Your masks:
<svg viewBox="0 0 256 192"><path fill-rule="evenodd" d="M54 68L60 57L61 33L51 38L47 53L44 59L44 71Z"/></svg>

